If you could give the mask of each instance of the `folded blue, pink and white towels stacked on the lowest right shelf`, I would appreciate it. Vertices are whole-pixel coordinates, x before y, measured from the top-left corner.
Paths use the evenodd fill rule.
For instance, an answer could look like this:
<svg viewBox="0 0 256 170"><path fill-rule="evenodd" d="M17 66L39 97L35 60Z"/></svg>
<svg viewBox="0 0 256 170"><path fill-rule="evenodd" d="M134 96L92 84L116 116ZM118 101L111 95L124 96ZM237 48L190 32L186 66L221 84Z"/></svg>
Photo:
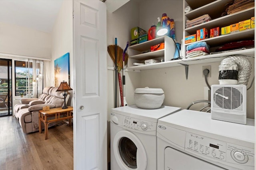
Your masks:
<svg viewBox="0 0 256 170"><path fill-rule="evenodd" d="M186 47L186 58L208 55L209 45L206 42L199 42Z"/></svg>

